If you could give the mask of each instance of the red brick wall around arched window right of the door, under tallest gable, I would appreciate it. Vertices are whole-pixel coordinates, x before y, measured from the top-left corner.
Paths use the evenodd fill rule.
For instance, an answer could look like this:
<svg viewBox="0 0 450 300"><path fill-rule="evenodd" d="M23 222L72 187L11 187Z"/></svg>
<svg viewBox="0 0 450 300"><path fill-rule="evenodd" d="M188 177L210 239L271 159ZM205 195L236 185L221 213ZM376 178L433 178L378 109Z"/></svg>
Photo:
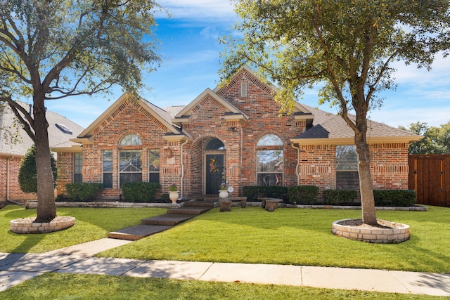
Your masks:
<svg viewBox="0 0 450 300"><path fill-rule="evenodd" d="M247 83L248 97L240 96L241 82ZM240 168L240 178L236 175L240 187L257 184L257 142L265 134L275 134L283 141L283 185L295 185L297 183L295 176L297 150L291 147L290 138L304 131L305 122L296 121L293 115L279 117L281 106L274 101L271 89L248 72L243 72L233 79L229 86L219 91L219 96L248 116L248 122L243 122L242 129L239 131L242 146L238 145L238 139L232 140L235 144L234 148L242 153L236 158L236 165L233 166L236 169ZM230 133L228 132L226 136L230 136ZM227 148L227 155L229 149Z"/></svg>

